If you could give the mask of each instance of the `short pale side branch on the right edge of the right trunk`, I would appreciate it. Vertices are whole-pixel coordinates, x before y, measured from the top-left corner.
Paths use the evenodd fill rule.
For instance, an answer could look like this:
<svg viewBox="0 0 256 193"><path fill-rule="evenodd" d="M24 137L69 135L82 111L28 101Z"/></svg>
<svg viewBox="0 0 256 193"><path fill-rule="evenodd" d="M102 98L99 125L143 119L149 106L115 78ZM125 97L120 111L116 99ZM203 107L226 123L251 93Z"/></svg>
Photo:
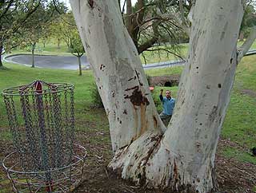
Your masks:
<svg viewBox="0 0 256 193"><path fill-rule="evenodd" d="M242 60L242 57L248 52L250 46L254 43L256 39L256 26L251 30L249 37L246 38L246 41L242 46L238 47L238 63Z"/></svg>

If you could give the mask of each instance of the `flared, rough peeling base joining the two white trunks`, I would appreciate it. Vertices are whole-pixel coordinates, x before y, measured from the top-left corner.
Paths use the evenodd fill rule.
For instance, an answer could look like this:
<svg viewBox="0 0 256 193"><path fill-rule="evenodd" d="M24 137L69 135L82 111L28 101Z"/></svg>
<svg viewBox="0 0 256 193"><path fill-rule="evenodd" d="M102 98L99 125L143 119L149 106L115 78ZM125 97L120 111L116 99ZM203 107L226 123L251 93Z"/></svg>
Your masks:
<svg viewBox="0 0 256 193"><path fill-rule="evenodd" d="M182 156L165 147L159 132L146 132L120 149L108 167L123 179L146 187L168 188L170 192L206 193L214 189L214 172L209 161L194 171L183 162Z"/></svg>

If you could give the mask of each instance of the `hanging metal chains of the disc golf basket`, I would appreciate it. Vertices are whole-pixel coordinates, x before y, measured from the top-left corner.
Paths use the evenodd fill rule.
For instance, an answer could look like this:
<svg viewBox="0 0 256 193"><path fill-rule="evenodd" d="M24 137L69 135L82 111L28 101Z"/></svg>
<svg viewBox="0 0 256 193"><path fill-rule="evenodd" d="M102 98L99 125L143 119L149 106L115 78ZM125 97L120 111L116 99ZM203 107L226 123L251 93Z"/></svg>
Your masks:
<svg viewBox="0 0 256 193"><path fill-rule="evenodd" d="M43 86L44 90L34 84L15 87L3 97L22 171L47 171L37 177L51 184L63 174L49 170L74 161L74 87Z"/></svg>

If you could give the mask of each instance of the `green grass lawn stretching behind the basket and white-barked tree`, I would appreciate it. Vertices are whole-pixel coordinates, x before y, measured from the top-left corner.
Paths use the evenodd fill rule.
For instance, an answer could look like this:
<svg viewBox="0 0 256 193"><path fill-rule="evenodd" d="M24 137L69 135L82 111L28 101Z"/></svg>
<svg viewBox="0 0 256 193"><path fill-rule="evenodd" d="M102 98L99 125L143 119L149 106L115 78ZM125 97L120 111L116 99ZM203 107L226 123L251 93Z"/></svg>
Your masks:
<svg viewBox="0 0 256 193"><path fill-rule="evenodd" d="M75 85L75 109L76 128L79 131L90 132L90 129L104 127L108 130L105 112L99 109L90 109L92 97L90 93L94 77L91 71L84 71L84 75L79 77L76 71L60 69L31 69L20 65L6 63L9 70L0 71L0 90L30 83L34 80L44 80L48 82L70 82ZM150 76L163 74L181 73L182 67L167 69L150 69L146 73ZM153 93L158 111L161 104L158 101L160 87L156 87ZM178 88L170 89L176 97ZM230 140L234 145L227 149L222 149L222 154L234 156L238 160L256 163L256 159L249 155L249 149L256 146L256 56L245 57L238 65L234 89L230 98L230 105L226 114L226 120L222 129L222 138ZM93 111L93 112L92 112ZM103 118L102 118L103 117ZM92 128L85 127L90 123ZM7 130L7 120L4 105L0 101L0 139L10 140L10 133ZM108 136L104 140L110 140Z"/></svg>

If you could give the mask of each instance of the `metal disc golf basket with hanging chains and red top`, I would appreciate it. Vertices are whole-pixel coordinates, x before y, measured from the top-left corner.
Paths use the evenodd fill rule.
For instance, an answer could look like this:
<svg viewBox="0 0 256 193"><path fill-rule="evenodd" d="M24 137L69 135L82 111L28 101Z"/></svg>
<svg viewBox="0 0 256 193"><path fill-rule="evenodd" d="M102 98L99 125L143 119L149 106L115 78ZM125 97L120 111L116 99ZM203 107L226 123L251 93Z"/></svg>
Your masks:
<svg viewBox="0 0 256 193"><path fill-rule="evenodd" d="M86 149L74 144L74 86L34 81L2 91L14 152L2 161L16 192L70 192Z"/></svg>

